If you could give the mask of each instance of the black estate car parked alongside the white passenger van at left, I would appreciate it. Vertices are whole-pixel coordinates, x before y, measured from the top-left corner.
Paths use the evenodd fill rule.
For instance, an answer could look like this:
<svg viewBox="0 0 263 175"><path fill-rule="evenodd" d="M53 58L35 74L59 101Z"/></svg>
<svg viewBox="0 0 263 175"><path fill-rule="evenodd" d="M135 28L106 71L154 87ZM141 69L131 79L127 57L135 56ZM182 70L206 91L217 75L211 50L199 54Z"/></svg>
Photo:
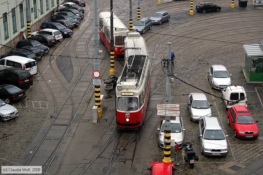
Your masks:
<svg viewBox="0 0 263 175"><path fill-rule="evenodd" d="M9 67L0 71L0 84L15 85L20 89L26 89L33 84L32 75L24 69Z"/></svg>

